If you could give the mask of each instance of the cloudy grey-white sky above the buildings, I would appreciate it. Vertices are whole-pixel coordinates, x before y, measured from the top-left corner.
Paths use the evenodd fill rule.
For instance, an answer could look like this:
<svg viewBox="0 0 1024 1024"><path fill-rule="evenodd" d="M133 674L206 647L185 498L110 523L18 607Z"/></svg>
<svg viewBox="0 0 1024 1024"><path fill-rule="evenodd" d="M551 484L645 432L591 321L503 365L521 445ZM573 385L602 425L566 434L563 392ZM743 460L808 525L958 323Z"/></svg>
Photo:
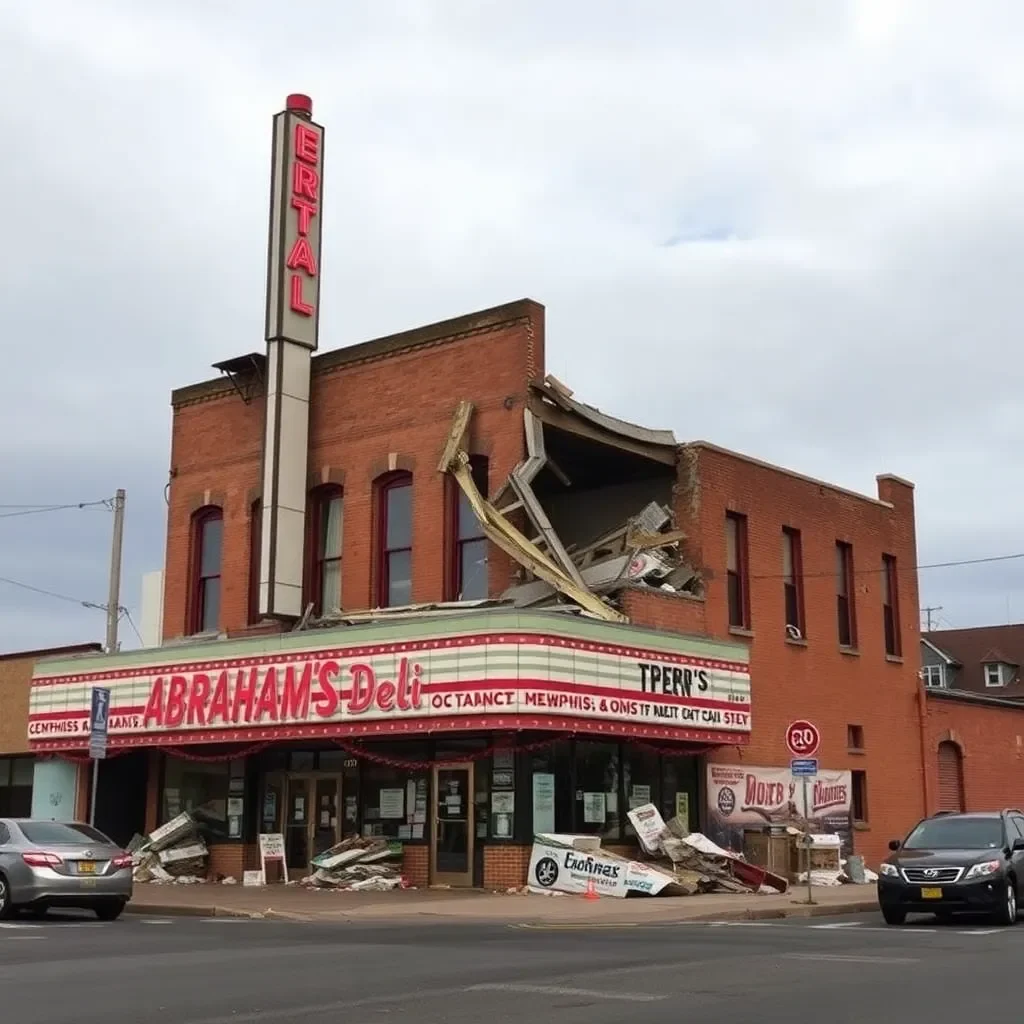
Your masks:
<svg viewBox="0 0 1024 1024"><path fill-rule="evenodd" d="M924 564L1024 550L1024 5L301 11L0 0L0 650L103 635L80 602L110 513L17 506L125 487L138 621L169 391L262 344L292 91L328 126L322 347L529 296L586 400L869 494L909 477ZM923 603L1024 621L1022 572L930 569Z"/></svg>

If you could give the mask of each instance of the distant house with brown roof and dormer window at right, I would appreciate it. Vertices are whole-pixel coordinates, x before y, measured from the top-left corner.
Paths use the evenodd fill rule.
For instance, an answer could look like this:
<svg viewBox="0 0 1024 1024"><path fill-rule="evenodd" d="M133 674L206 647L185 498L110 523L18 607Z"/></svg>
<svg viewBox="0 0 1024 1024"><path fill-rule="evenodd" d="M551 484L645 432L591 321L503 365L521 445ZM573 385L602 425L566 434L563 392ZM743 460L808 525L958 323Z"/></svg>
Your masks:
<svg viewBox="0 0 1024 1024"><path fill-rule="evenodd" d="M929 689L1024 699L1024 625L933 630L921 638L922 680Z"/></svg>

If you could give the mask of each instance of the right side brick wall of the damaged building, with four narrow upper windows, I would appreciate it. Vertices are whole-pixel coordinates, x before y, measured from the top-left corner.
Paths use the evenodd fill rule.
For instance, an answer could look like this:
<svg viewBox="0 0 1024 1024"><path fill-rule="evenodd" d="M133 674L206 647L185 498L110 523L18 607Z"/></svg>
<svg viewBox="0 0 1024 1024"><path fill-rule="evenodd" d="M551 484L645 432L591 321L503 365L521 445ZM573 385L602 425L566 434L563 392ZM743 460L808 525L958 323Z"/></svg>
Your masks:
<svg viewBox="0 0 1024 1024"><path fill-rule="evenodd" d="M921 767L920 667L915 573L899 573L903 658L887 657L882 617L882 556L908 570L916 563L913 488L896 477L878 480L879 500L726 452L702 441L684 445L677 486L677 520L689 534L688 554L710 570L699 624L694 602L635 598L639 624L694 629L750 646L753 733L745 749L726 749L713 761L782 766L790 755L785 728L809 718L821 730L822 767L860 769L867 777L868 827L855 842L869 862L886 852L924 809ZM725 564L727 511L748 522L751 623L730 630ZM801 531L806 637L785 632L782 527ZM837 541L853 546L857 647L841 651L836 610ZM666 604L679 603L677 612ZM692 625L691 625L692 624ZM863 730L863 752L848 749L847 726Z"/></svg>

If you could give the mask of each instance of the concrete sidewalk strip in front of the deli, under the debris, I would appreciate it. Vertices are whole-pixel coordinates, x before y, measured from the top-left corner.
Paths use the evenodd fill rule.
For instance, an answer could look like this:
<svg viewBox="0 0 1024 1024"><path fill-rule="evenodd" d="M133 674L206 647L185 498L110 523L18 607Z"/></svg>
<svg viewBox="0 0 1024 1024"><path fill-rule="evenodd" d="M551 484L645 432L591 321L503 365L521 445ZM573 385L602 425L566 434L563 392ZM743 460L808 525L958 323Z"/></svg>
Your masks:
<svg viewBox="0 0 1024 1024"><path fill-rule="evenodd" d="M781 896L715 893L701 896L604 897L504 894L479 890L406 889L392 892L337 892L298 886L175 886L136 884L128 906L132 913L154 915L265 918L278 921L339 924L348 921L399 924L432 918L447 923L518 924L547 927L580 925L652 925L686 921L757 921L790 916L863 913L878 908L874 886L815 888Z"/></svg>

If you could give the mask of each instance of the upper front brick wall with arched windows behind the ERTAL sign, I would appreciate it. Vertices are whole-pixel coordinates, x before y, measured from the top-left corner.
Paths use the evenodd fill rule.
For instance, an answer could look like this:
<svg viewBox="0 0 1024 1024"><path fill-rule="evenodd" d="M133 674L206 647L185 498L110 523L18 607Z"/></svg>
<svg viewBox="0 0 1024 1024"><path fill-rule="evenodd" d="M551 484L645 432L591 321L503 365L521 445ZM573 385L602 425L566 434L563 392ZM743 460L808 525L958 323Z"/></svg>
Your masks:
<svg viewBox="0 0 1024 1024"><path fill-rule="evenodd" d="M476 406L471 446L501 481L524 453L522 408L543 375L544 307L528 300L313 359L309 482L345 488L342 603L373 594L373 481L389 468L414 473L413 600L445 597L445 477L437 460L463 397ZM190 517L207 504L224 515L221 628L246 625L250 509L259 498L265 403L246 404L226 384L175 392L171 440L164 636L186 626ZM509 560L492 552L493 586Z"/></svg>

